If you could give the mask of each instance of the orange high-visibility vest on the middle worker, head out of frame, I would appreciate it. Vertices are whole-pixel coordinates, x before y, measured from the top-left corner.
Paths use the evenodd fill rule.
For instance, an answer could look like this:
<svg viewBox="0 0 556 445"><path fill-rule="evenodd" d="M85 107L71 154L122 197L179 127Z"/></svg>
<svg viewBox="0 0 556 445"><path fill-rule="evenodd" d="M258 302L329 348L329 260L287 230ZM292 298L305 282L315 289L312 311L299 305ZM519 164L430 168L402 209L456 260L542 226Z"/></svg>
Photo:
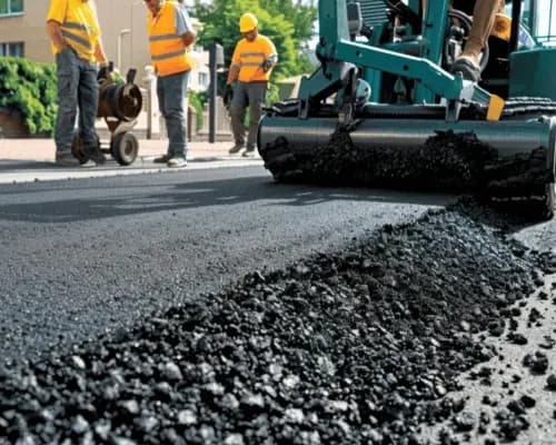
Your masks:
<svg viewBox="0 0 556 445"><path fill-rule="evenodd" d="M166 1L156 18L148 17L150 59L159 76L170 76L189 71L191 59L186 51L186 44L176 29L175 1Z"/></svg>

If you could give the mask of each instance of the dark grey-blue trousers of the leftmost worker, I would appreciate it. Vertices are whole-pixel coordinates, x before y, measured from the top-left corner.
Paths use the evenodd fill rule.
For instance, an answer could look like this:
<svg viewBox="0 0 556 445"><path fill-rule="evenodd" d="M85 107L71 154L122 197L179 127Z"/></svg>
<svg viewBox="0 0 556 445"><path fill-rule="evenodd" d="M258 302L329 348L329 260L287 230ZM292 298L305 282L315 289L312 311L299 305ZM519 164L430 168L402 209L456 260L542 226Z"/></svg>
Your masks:
<svg viewBox="0 0 556 445"><path fill-rule="evenodd" d="M58 75L58 115L56 119L56 150L71 152L77 110L79 109L79 138L83 147L97 145L95 119L99 103L97 67L77 57L69 47L56 55Z"/></svg>

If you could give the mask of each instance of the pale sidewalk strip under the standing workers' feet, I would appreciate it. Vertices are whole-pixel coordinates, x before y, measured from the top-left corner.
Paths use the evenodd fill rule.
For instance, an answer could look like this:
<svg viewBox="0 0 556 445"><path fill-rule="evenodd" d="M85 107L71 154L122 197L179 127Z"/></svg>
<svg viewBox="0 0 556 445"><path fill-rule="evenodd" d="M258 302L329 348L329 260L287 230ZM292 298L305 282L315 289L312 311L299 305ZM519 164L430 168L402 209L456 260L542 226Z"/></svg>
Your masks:
<svg viewBox="0 0 556 445"><path fill-rule="evenodd" d="M95 164L90 166L90 162L88 162L81 167L59 167L53 164L56 146L52 139L0 139L0 184L226 167L260 166L262 168L264 165L258 154L249 158L228 155L228 149L232 145L230 141L215 144L208 141L188 142L188 166L185 169L155 164L152 160L156 157L166 154L167 145L167 139L139 140L138 157L130 166L120 166L111 156L107 156L107 162L102 166L95 166ZM102 148L105 148L105 144Z"/></svg>

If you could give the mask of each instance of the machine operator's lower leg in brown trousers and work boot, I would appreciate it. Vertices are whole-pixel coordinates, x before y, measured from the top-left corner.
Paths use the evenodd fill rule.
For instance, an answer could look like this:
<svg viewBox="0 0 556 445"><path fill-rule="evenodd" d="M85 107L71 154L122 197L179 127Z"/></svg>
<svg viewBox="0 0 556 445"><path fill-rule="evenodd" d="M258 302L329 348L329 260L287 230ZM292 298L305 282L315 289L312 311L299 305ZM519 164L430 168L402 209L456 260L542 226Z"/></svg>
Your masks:
<svg viewBox="0 0 556 445"><path fill-rule="evenodd" d="M451 65L453 73L461 72L466 80L480 78L480 52L493 29L496 13L504 10L504 0L477 0L473 10L473 23L464 51Z"/></svg>

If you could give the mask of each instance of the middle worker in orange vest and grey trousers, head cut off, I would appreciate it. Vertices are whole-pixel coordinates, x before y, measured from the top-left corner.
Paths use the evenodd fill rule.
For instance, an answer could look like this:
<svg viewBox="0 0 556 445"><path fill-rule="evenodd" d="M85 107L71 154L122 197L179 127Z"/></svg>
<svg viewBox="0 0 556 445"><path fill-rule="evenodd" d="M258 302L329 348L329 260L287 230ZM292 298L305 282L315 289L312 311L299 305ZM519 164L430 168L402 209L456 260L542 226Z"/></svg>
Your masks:
<svg viewBox="0 0 556 445"><path fill-rule="evenodd" d="M186 7L177 1L145 0L149 9L150 58L157 73L157 96L168 132L166 155L155 162L187 166L186 99L196 32Z"/></svg>

